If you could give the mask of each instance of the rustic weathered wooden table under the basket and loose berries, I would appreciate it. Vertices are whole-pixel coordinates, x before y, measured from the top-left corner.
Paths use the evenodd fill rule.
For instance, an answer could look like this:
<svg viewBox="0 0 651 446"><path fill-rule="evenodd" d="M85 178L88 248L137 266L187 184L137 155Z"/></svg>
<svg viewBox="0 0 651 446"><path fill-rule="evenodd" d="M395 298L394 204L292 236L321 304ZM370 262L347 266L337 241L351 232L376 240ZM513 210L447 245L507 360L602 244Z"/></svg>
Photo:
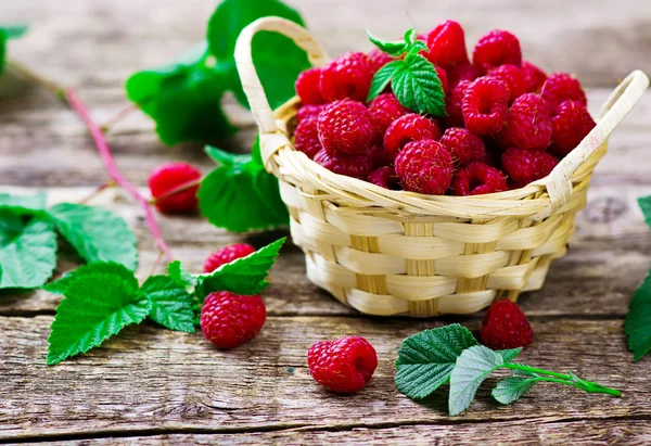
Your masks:
<svg viewBox="0 0 651 446"><path fill-rule="evenodd" d="M103 122L126 105L124 80L163 64L203 37L213 0L5 0L0 22L25 21L31 30L12 41L11 55L44 76L77 86ZM651 73L651 5L646 0L295 0L332 54L368 49L365 28L396 35L447 17L464 24L469 42L493 27L520 36L526 58L549 71L575 73L597 111L633 68ZM597 4L599 3L599 4ZM311 285L302 253L286 246L265 293L269 318L261 334L218 352L201 334L144 324L101 348L55 367L44 365L59 297L37 291L0 295L0 443L150 444L602 444L651 443L649 358L631 362L622 330L628 298L648 271L651 233L636 199L651 194L651 93L618 128L579 214L570 254L557 260L545 288L521 297L536 333L523 354L534 366L572 369L624 391L622 398L540 385L511 406L481 391L471 410L446 415L446 399L422 404L393 384L400 341L425 328L459 321L477 329L481 315L411 320L370 318ZM230 142L251 143L247 128ZM140 113L110 132L117 163L144 184L163 161L186 160L208 171L200 146L163 146ZM0 101L0 183L47 189L52 201L85 196L107 176L76 116L36 88ZM13 189L12 189L13 188ZM141 212L123 195L97 201L137 231L141 276L155 249ZM200 218L161 217L174 254L199 270L206 255L242 238ZM263 244L270 235L250 239ZM69 253L68 253L69 254ZM64 255L64 258L66 256ZM58 273L75 266L60 262ZM305 354L316 341L361 334L378 349L372 383L355 396L315 385Z"/></svg>

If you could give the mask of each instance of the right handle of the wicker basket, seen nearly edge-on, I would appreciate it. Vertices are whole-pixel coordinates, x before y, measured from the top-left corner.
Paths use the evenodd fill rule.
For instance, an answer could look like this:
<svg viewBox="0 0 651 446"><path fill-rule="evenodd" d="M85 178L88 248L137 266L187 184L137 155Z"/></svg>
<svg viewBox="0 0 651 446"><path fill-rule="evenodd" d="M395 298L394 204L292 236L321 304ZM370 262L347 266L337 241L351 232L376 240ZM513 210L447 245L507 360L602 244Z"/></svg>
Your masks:
<svg viewBox="0 0 651 446"><path fill-rule="evenodd" d="M548 177L534 183L545 186L550 199L550 204L532 217L534 220L549 217L567 203L567 200L572 196L571 178L574 173L599 149L615 127L626 117L628 112L642 98L647 87L649 87L649 78L641 71L636 69L626 76L603 103L597 126L580 141L576 149L556 166Z"/></svg>

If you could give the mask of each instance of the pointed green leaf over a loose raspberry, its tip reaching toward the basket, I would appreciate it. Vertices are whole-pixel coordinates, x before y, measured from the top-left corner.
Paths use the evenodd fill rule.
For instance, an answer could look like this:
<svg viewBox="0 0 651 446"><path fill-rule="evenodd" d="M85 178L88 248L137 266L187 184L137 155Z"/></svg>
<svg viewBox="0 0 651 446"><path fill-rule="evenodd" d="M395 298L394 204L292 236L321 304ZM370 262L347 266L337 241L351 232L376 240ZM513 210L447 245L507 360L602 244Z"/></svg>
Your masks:
<svg viewBox="0 0 651 446"><path fill-rule="evenodd" d="M209 275L199 276L195 294L200 302L215 291L242 295L261 293L269 284L266 279L284 242L285 238L279 239L246 257L220 266Z"/></svg>

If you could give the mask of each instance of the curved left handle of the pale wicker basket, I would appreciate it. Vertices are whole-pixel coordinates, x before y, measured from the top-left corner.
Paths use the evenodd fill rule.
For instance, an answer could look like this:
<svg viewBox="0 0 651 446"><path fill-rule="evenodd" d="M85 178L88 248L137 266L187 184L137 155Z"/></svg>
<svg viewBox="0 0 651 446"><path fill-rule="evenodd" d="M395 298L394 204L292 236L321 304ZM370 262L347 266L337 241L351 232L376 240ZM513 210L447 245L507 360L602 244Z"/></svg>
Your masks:
<svg viewBox="0 0 651 446"><path fill-rule="evenodd" d="M265 166L267 166L271 156L280 148L289 144L290 141L276 124L273 111L269 105L265 89L253 64L251 49L253 37L258 31L276 31L294 40L299 48L305 50L307 59L314 66L324 65L328 62L328 55L321 44L315 40L307 29L281 17L258 18L242 29L240 37L238 37L234 53L235 65L242 81L242 89L248 99L251 111L259 129L260 153ZM282 58L282 54L278 54L278 56Z"/></svg>

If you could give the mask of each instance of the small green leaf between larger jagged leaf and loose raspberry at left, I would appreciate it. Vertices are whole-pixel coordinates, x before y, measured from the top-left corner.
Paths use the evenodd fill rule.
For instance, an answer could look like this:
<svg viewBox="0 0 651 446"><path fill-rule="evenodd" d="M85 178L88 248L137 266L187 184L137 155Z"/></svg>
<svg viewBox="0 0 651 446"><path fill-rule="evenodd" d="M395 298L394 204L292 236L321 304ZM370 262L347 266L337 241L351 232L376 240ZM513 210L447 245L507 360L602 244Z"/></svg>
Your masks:
<svg viewBox="0 0 651 446"><path fill-rule="evenodd" d="M149 297L150 318L169 330L194 333L194 310L190 294L167 276L152 276L140 289Z"/></svg>

